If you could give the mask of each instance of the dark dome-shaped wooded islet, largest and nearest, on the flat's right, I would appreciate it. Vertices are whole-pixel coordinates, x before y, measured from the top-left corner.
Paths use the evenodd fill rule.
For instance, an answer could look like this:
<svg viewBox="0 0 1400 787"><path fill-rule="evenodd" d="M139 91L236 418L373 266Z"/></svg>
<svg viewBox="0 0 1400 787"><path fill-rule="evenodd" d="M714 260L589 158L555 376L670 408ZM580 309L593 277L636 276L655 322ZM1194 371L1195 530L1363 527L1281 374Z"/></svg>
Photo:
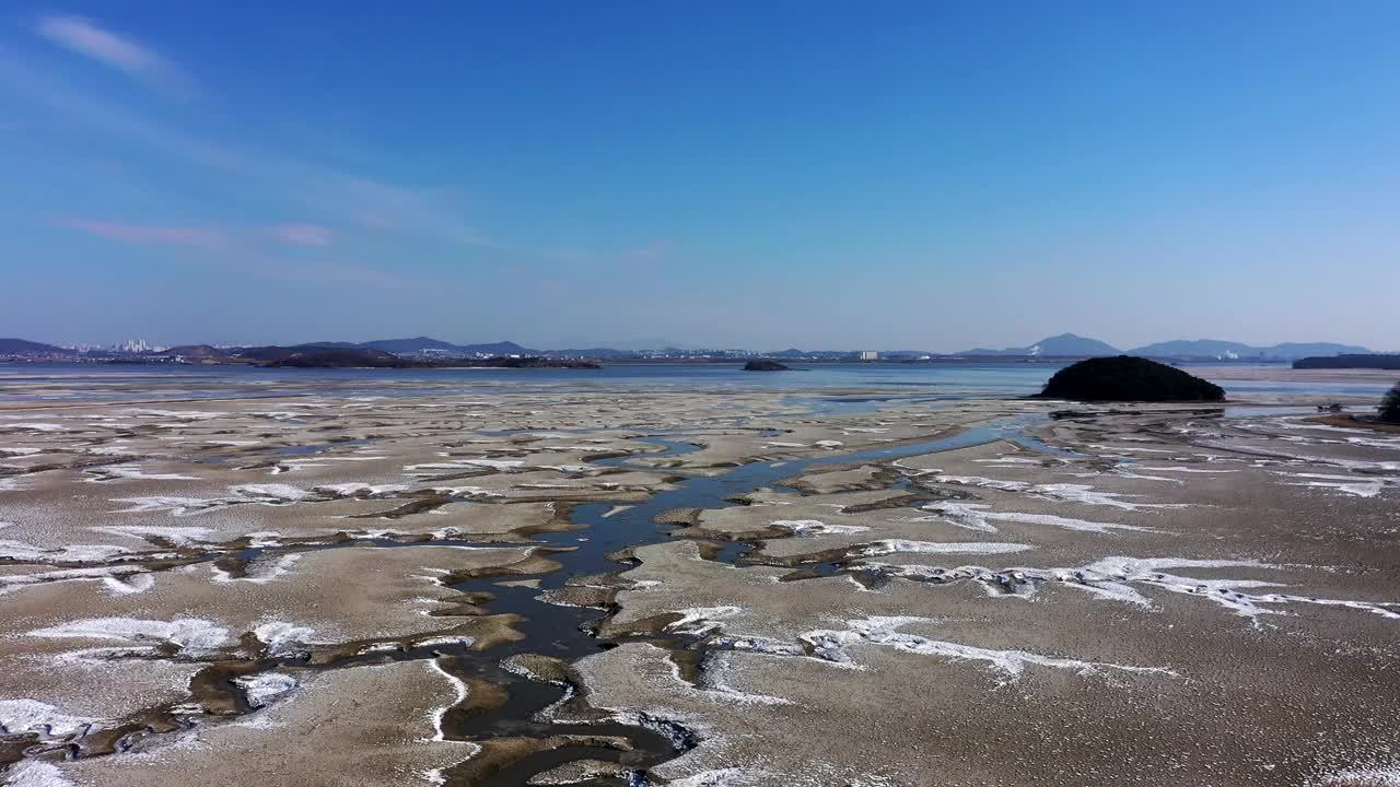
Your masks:
<svg viewBox="0 0 1400 787"><path fill-rule="evenodd" d="M1176 367L1116 356L1061 368L1039 396L1079 402L1224 402L1225 389Z"/></svg>

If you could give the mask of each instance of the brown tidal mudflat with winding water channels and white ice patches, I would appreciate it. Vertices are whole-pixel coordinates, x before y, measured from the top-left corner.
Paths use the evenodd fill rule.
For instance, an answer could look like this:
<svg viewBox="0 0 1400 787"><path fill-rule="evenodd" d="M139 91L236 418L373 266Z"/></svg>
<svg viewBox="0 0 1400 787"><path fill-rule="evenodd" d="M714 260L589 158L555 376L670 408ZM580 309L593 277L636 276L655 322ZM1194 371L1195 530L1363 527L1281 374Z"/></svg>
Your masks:
<svg viewBox="0 0 1400 787"><path fill-rule="evenodd" d="M92 377L0 402L6 784L1400 784L1329 395Z"/></svg>

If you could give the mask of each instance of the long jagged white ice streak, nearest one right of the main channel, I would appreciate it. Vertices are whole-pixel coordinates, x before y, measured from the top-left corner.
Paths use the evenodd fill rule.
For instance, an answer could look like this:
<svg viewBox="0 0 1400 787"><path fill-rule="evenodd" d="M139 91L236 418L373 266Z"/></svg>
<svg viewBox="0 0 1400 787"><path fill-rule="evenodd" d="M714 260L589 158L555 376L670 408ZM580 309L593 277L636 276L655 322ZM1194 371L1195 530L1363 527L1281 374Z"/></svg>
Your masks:
<svg viewBox="0 0 1400 787"><path fill-rule="evenodd" d="M1002 674L1008 681L1019 678L1021 674L1025 672L1026 665L1032 664L1054 669L1072 669L1079 675L1093 675L1102 669L1166 676L1176 675L1170 669L1161 667L1134 667L1126 664L1079 661L1077 658L1058 658L1023 650L988 650L899 632L900 627L910 623L938 623L938 620L931 618L875 616L860 620L847 620L846 630L808 632L802 634L801 639L809 643L818 655L839 664L854 664L851 655L846 653L848 646L871 643L906 653L937 655L955 662L986 661L993 669Z"/></svg>

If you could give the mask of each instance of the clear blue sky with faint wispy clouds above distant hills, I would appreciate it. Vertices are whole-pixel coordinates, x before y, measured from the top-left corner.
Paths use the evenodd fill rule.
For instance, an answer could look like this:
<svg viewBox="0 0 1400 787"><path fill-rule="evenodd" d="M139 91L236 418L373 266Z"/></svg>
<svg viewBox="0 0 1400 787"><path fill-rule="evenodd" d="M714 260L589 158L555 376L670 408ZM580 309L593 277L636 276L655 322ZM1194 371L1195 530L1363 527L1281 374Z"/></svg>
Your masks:
<svg viewBox="0 0 1400 787"><path fill-rule="evenodd" d="M0 335L1400 349L1396 29L1361 0L7 3Z"/></svg>

